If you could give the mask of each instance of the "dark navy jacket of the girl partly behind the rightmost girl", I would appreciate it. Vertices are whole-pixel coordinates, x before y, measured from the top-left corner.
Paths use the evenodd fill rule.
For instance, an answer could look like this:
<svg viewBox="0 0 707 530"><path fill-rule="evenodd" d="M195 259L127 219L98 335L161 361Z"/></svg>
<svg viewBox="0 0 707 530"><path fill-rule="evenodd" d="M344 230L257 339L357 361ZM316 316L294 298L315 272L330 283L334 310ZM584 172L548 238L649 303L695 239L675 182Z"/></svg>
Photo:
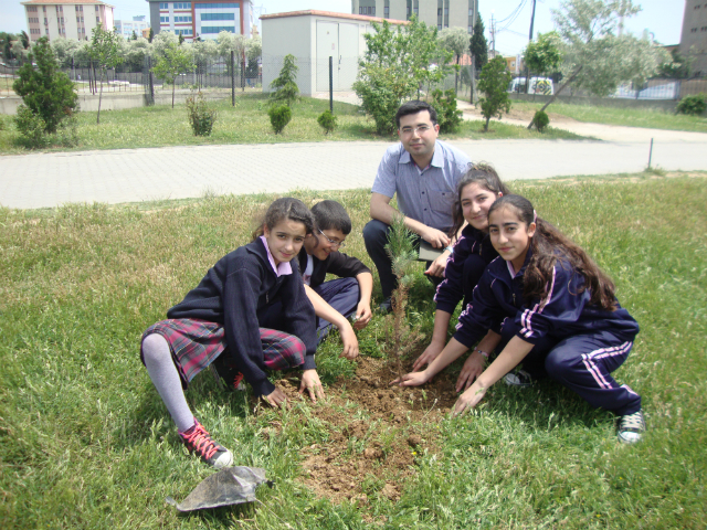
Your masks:
<svg viewBox="0 0 707 530"><path fill-rule="evenodd" d="M477 255L488 264L498 253L490 244L488 234L467 224L454 244L454 252L447 258L444 268L444 280L437 286L434 295L439 310L453 314L464 298L464 262L471 255Z"/></svg>

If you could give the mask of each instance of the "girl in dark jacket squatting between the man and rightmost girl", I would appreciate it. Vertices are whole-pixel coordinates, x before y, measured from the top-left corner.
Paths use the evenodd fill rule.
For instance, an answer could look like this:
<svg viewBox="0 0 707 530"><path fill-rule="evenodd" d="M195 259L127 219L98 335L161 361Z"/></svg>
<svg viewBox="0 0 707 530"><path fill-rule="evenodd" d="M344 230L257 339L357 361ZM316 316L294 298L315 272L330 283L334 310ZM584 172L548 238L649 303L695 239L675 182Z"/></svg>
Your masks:
<svg viewBox="0 0 707 530"><path fill-rule="evenodd" d="M488 209L496 199L510 192L500 181L496 170L485 163L474 163L460 180L456 190L454 227L451 233L460 235L447 259L444 280L437 286L434 295L436 309L432 340L412 365L413 370L420 370L432 362L444 349L454 309L461 300L462 307L472 301L474 287L488 264L498 257L488 237ZM483 358L478 365L483 367Z"/></svg>

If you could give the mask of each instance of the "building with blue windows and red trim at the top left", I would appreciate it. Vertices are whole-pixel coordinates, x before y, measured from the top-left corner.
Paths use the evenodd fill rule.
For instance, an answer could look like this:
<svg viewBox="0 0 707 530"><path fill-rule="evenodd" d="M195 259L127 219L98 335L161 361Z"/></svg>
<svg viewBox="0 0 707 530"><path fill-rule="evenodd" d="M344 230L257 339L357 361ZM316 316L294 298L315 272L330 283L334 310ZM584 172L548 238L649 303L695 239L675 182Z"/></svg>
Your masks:
<svg viewBox="0 0 707 530"><path fill-rule="evenodd" d="M253 4L250 0L147 1L150 4L150 25L155 34L169 31L183 35L187 41L193 41L197 36L202 40L215 39L222 31L252 36Z"/></svg>

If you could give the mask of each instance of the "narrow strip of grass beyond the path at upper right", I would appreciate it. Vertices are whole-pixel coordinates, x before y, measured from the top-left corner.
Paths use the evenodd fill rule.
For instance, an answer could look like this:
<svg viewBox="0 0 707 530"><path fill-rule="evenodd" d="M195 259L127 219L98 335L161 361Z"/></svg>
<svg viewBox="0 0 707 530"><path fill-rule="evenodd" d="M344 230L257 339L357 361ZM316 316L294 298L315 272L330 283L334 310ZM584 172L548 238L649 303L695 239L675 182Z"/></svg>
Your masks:
<svg viewBox="0 0 707 530"><path fill-rule="evenodd" d="M514 108L532 113L542 108L542 103L513 102ZM546 113L560 114L579 121L592 124L707 132L707 116L686 116L684 114L666 113L661 109L612 108L553 103L546 109Z"/></svg>

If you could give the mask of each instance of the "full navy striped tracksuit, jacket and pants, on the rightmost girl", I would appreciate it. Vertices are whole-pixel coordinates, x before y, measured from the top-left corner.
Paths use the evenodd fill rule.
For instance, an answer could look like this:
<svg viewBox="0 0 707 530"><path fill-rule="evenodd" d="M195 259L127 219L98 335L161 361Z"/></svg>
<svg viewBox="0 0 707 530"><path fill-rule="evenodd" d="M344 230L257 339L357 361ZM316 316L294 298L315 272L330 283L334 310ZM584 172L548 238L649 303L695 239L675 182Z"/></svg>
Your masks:
<svg viewBox="0 0 707 530"><path fill-rule="evenodd" d="M584 278L561 258L546 297L525 304L523 276L530 256L531 251L514 277L500 257L488 265L454 338L471 348L492 329L503 337L503 348L517 336L534 344L523 362L530 374L547 373L592 406L619 415L640 411L641 396L611 377L629 357L637 322L622 307L606 311L590 305L590 293L579 293Z"/></svg>

